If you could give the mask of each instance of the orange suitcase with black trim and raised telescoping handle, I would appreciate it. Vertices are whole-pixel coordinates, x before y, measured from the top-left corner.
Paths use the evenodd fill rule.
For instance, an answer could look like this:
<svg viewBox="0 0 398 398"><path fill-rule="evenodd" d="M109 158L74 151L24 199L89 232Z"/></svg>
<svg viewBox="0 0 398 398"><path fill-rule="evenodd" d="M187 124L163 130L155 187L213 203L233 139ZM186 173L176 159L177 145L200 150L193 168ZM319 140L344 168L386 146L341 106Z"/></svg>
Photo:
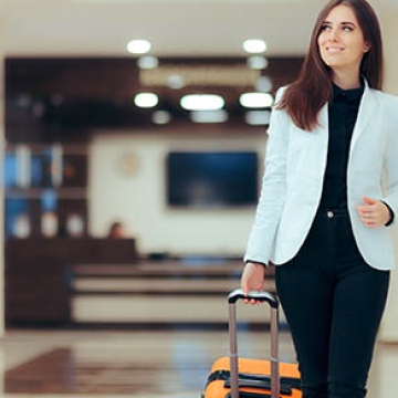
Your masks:
<svg viewBox="0 0 398 398"><path fill-rule="evenodd" d="M271 308L270 360L238 357L235 303L241 298L245 298L241 289L228 296L230 354L213 363L202 398L301 398L297 364L279 362L279 301L273 294L251 292L249 295Z"/></svg>

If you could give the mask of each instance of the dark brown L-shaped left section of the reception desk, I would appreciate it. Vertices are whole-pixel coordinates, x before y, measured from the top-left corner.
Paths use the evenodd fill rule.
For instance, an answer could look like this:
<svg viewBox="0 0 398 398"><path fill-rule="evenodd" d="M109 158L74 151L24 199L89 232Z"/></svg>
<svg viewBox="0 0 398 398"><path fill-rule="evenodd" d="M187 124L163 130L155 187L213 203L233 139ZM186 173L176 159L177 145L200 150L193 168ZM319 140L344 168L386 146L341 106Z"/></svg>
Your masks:
<svg viewBox="0 0 398 398"><path fill-rule="evenodd" d="M134 264L134 239L12 239L6 243L6 320L69 324L75 264Z"/></svg>

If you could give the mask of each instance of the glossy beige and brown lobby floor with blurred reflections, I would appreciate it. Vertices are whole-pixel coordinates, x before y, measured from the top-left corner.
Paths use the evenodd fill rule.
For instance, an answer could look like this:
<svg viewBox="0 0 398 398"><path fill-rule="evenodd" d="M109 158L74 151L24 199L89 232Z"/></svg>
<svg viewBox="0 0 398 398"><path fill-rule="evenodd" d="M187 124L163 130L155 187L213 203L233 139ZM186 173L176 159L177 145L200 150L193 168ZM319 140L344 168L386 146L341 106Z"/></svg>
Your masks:
<svg viewBox="0 0 398 398"><path fill-rule="evenodd" d="M294 362L289 333L281 359ZM269 334L243 331L239 350L265 357ZM1 397L198 398L211 363L228 353L224 331L73 332L9 331L1 342ZM379 343L370 398L398 389L398 345Z"/></svg>

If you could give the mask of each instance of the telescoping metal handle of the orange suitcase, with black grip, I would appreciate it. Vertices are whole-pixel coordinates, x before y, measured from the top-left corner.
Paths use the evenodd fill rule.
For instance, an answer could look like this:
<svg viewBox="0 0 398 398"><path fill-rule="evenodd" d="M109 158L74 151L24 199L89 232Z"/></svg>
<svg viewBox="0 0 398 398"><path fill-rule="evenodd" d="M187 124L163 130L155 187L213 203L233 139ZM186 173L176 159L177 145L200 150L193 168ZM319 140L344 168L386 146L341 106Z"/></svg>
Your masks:
<svg viewBox="0 0 398 398"><path fill-rule="evenodd" d="M279 377L279 301L269 292L250 292L245 295L241 289L235 289L228 295L229 304L229 345L230 345L230 368L231 368L231 398L239 398L239 369L238 369L238 338L237 338L237 310L235 303L239 300L256 300L270 305L271 312L271 398L280 397Z"/></svg>

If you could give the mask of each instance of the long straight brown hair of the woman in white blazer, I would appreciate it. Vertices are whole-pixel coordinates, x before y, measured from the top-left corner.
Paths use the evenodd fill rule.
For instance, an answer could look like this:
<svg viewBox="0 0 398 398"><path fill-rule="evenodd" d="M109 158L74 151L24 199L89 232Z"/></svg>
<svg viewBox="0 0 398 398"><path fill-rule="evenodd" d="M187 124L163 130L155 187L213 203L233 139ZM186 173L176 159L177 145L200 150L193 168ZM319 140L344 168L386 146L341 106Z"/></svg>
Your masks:
<svg viewBox="0 0 398 398"><path fill-rule="evenodd" d="M339 4L352 8L364 40L370 44L370 50L363 56L360 74L373 88L380 90L383 84L381 30L374 9L366 0L331 0L316 20L298 78L286 87L277 104L277 108L286 109L296 126L308 132L316 127L317 115L333 93L331 70L321 57L317 39L327 14Z"/></svg>

